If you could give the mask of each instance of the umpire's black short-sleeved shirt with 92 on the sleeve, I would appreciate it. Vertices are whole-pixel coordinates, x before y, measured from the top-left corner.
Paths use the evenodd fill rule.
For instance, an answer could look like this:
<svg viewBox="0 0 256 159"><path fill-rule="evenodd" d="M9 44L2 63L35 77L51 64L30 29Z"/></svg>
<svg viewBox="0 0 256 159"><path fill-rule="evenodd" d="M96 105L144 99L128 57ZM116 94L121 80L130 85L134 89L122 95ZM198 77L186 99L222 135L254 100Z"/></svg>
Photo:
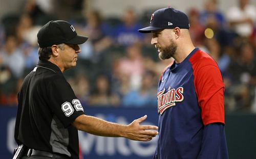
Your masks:
<svg viewBox="0 0 256 159"><path fill-rule="evenodd" d="M79 158L78 131L72 123L82 114L82 105L58 66L39 60L18 93L15 140Z"/></svg>

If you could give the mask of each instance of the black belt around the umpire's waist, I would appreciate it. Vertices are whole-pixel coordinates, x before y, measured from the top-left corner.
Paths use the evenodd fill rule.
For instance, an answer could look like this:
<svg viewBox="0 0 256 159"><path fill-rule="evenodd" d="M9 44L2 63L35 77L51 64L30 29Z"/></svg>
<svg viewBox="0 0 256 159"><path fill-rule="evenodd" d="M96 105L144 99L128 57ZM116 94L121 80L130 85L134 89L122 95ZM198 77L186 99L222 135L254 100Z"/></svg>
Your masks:
<svg viewBox="0 0 256 159"><path fill-rule="evenodd" d="M51 157L51 158L63 158L63 159L70 159L65 154L59 154L59 153L51 153L47 151L40 151L40 150L35 150L35 149L28 149L27 151L27 156L45 156L45 157Z"/></svg>

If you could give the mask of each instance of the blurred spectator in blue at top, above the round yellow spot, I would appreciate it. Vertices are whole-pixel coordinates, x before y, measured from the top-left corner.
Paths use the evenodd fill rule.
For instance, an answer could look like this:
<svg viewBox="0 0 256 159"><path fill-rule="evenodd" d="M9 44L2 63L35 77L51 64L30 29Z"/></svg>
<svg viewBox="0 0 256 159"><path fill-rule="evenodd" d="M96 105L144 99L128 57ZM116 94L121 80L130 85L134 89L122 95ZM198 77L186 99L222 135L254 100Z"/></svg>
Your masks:
<svg viewBox="0 0 256 159"><path fill-rule="evenodd" d="M225 16L218 8L218 0L206 0L204 10L200 13L200 23L207 26L210 21L217 21L221 28L226 25Z"/></svg>

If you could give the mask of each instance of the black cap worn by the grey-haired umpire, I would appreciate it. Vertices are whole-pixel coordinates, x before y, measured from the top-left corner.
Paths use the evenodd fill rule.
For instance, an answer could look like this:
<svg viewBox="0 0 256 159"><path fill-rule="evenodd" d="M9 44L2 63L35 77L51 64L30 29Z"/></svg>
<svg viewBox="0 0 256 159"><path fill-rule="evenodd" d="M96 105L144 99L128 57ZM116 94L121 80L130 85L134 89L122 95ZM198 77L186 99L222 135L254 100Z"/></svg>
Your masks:
<svg viewBox="0 0 256 159"><path fill-rule="evenodd" d="M82 44L88 37L77 35L74 26L68 21L51 20L37 33L37 42L40 47L66 44Z"/></svg>

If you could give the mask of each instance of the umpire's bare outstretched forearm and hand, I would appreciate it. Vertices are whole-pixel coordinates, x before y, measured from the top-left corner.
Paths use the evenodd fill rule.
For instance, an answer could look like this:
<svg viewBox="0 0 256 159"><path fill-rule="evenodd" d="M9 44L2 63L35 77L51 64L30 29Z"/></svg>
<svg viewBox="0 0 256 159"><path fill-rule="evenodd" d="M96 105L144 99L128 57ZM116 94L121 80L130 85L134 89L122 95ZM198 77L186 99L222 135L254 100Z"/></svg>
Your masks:
<svg viewBox="0 0 256 159"><path fill-rule="evenodd" d="M80 115L73 122L78 130L104 137L124 137L131 140L150 141L158 135L158 127L154 125L140 125L146 115L134 120L129 125L121 125L105 121L93 116Z"/></svg>

